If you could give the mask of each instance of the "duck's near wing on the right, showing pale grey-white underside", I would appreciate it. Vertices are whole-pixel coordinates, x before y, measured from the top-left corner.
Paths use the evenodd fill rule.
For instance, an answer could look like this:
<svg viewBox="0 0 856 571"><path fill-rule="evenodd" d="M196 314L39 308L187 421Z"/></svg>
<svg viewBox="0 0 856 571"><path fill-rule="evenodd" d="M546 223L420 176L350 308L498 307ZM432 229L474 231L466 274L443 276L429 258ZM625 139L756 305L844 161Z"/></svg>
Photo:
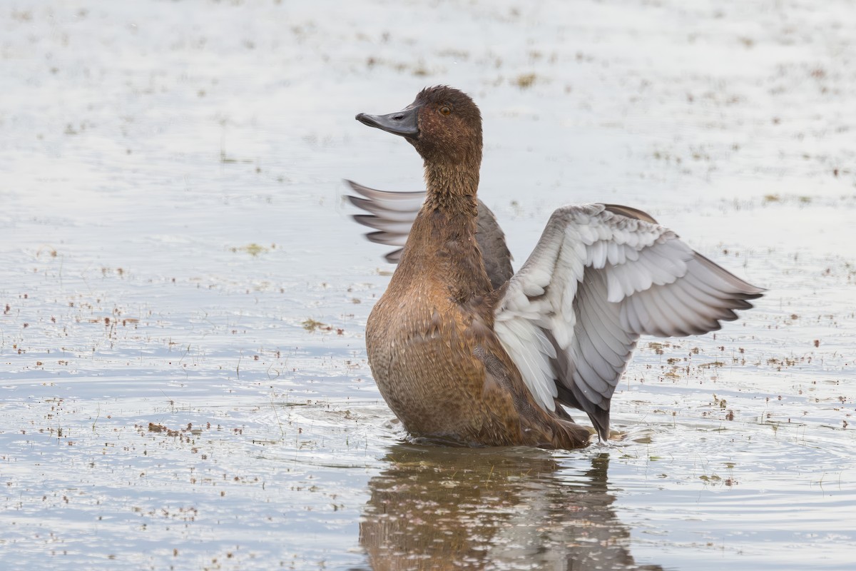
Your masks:
<svg viewBox="0 0 856 571"><path fill-rule="evenodd" d="M560 208L496 305L496 334L535 400L584 410L609 437L609 401L641 334L718 330L764 292L647 214Z"/></svg>

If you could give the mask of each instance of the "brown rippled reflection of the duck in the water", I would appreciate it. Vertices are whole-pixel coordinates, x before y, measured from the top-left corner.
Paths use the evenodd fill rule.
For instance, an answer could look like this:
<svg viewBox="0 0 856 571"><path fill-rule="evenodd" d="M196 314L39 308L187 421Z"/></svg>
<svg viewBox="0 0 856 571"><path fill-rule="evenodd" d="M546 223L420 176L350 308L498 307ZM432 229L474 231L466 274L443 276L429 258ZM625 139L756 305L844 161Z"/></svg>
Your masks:
<svg viewBox="0 0 856 571"><path fill-rule="evenodd" d="M628 551L609 455L574 473L539 449L398 445L386 460L360 523L373 569L660 569Z"/></svg>

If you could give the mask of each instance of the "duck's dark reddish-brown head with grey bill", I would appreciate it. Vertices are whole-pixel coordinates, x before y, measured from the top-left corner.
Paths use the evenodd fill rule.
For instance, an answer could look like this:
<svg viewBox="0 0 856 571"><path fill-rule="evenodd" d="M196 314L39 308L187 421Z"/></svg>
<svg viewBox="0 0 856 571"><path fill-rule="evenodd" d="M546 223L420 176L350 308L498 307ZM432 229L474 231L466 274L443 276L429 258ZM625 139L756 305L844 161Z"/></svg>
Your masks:
<svg viewBox="0 0 856 571"><path fill-rule="evenodd" d="M481 113L473 99L454 87L425 87L412 104L389 115L360 113L357 121L401 135L425 161L481 162Z"/></svg>

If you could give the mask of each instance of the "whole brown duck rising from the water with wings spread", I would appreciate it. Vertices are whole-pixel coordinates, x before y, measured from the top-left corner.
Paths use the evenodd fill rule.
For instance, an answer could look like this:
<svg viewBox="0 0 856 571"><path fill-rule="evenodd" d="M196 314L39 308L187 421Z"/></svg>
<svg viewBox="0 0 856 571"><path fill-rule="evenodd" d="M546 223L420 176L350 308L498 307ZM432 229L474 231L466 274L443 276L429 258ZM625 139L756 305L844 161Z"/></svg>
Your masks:
<svg viewBox="0 0 856 571"><path fill-rule="evenodd" d="M610 401L642 335L719 330L764 294L635 208L552 213L516 272L478 198L482 118L465 92L421 90L412 104L356 120L407 140L425 192L348 181L375 229L399 247L366 320L377 388L413 440L579 449L610 437ZM589 417L593 431L568 408Z"/></svg>

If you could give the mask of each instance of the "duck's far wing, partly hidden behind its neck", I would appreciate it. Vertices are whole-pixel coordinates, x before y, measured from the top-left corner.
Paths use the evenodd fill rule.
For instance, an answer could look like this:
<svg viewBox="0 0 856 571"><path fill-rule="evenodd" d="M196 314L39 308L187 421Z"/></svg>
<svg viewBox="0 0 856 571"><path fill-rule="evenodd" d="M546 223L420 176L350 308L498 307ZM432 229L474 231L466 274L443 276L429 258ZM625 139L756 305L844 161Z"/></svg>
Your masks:
<svg viewBox="0 0 856 571"><path fill-rule="evenodd" d="M366 238L377 244L385 246L397 246L394 251L386 254L384 258L390 264L398 264L401 251L410 234L413 220L419 213L422 203L425 202L425 191L414 193L402 193L375 188L364 187L354 181L346 181L348 186L359 193L363 198L348 196L348 200L354 206L369 212L369 214L357 214L354 220L375 229L375 232L366 234ZM514 275L511 268L511 254L505 245L505 235L496 217L484 202L479 200L479 219L477 221L476 241L484 259L484 270L490 278L493 288L499 288L508 282Z"/></svg>

